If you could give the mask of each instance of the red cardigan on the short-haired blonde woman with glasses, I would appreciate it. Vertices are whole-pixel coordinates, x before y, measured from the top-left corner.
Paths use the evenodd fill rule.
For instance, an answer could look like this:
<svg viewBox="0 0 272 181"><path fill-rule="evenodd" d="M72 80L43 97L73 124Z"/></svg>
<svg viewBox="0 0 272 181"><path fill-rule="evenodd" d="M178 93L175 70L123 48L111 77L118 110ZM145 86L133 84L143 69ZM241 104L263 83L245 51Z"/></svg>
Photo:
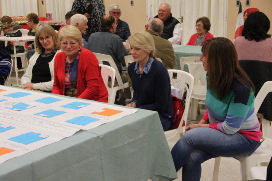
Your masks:
<svg viewBox="0 0 272 181"><path fill-rule="evenodd" d="M59 52L55 58L55 78L52 93L64 95L66 54ZM77 72L77 97L108 102L108 91L104 84L96 56L88 49L81 49Z"/></svg>

